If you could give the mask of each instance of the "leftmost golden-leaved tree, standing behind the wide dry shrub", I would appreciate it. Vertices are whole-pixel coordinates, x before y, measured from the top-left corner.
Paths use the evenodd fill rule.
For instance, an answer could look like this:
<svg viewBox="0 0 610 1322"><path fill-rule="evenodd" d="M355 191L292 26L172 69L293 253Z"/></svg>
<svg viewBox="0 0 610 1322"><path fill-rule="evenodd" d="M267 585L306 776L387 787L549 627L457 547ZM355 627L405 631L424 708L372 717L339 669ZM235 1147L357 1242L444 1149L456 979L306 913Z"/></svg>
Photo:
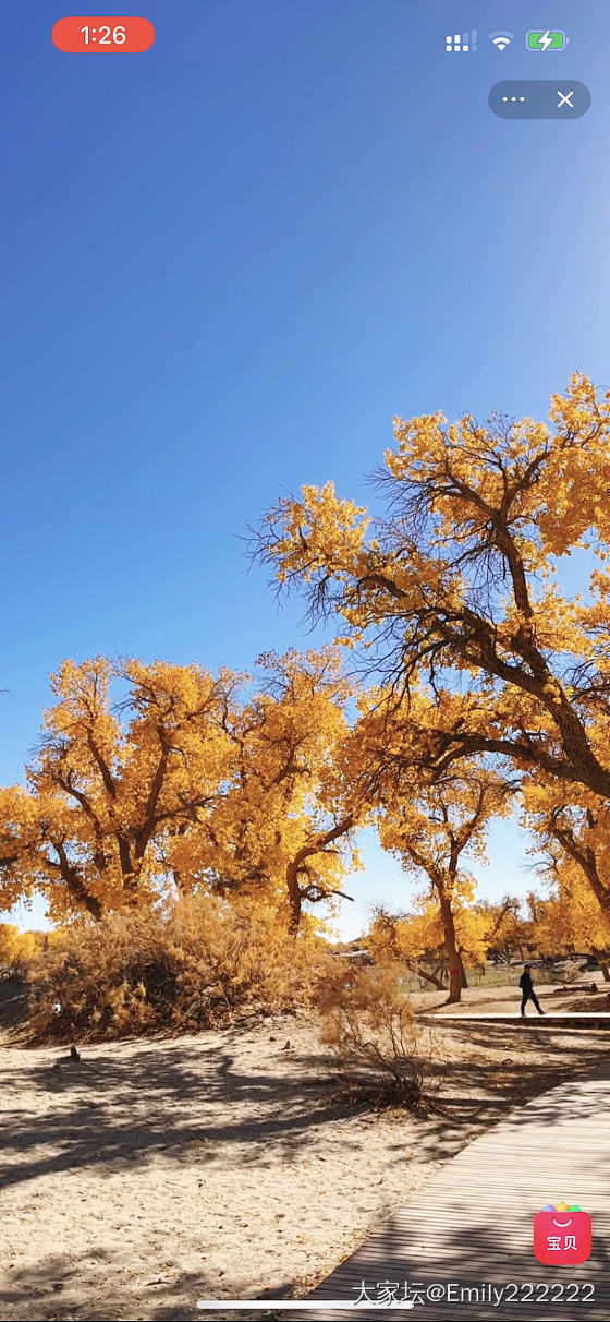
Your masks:
<svg viewBox="0 0 610 1322"><path fill-rule="evenodd" d="M227 773L236 683L199 666L63 662L29 788L0 797L4 902L37 887L51 916L99 919L158 898L161 841L209 812Z"/></svg>

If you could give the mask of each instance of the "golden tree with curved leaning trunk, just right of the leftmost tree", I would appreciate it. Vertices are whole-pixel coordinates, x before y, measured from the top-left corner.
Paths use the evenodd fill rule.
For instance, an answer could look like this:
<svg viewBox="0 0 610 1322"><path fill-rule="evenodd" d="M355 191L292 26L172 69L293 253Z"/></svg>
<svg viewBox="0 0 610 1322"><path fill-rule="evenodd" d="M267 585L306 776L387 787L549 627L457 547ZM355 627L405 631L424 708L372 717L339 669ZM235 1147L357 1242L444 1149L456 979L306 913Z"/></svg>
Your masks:
<svg viewBox="0 0 610 1322"><path fill-rule="evenodd" d="M363 806L341 760L350 687L333 648L269 653L260 670L231 730L231 781L197 830L170 841L170 859L222 894L271 898L296 933L304 906L350 899L341 883L358 866Z"/></svg>

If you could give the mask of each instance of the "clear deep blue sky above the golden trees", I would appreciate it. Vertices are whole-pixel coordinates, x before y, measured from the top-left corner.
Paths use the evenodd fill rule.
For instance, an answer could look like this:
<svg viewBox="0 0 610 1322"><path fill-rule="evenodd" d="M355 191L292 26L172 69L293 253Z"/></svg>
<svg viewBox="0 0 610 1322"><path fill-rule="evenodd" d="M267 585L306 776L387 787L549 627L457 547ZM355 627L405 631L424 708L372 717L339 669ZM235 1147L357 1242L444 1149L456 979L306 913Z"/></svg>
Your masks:
<svg viewBox="0 0 610 1322"><path fill-rule="evenodd" d="M236 534L302 483L366 500L393 414L540 414L570 370L609 378L602 0L143 0L137 56L59 53L66 12L0 5L3 783L65 656L305 644ZM527 52L549 24L565 53ZM556 74L585 118L489 110ZM408 898L364 846L346 935ZM491 858L483 894L528 888L510 825Z"/></svg>

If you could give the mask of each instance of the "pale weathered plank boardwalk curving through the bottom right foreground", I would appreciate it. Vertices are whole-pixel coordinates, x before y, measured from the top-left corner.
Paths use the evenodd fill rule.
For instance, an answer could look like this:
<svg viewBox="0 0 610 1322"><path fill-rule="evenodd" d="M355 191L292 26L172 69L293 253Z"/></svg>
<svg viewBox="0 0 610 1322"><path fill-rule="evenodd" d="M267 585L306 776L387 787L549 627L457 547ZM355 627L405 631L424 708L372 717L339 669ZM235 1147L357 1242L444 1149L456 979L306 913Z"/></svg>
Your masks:
<svg viewBox="0 0 610 1322"><path fill-rule="evenodd" d="M409 1206L309 1296L310 1302L320 1300L320 1314L284 1317L323 1317L325 1300L355 1300L362 1282L368 1284L368 1297L375 1301L380 1300L379 1282L399 1282L400 1296L409 1281L420 1284L424 1296L436 1284L446 1289L448 1282L471 1293L438 1301L437 1290L434 1301L432 1290L423 1307L401 1311L403 1318L609 1322L609 1099L610 1063L605 1063L514 1112L448 1162ZM580 1266L544 1266L532 1252L533 1215L561 1200L580 1204L593 1220L593 1253ZM499 1289L510 1282L516 1292L508 1294L516 1298L490 1302L491 1285ZM524 1298L527 1282L532 1285L529 1301ZM544 1294L543 1282L549 1284L547 1302L536 1302L536 1296ZM593 1298L588 1298L592 1292L585 1282L593 1285ZM379 1307L351 1307L327 1310L326 1317L346 1318L355 1311L366 1318L383 1315ZM275 1315L283 1317L281 1311Z"/></svg>

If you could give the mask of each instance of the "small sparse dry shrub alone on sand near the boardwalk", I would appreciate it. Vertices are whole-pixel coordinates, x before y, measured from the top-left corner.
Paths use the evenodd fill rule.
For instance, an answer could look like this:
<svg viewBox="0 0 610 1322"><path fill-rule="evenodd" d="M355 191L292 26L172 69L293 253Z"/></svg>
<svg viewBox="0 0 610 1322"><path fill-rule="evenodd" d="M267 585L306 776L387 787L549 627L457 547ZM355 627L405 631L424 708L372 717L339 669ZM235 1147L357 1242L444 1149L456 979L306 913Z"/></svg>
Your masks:
<svg viewBox="0 0 610 1322"><path fill-rule="evenodd" d="M318 993L322 1040L343 1066L364 1100L417 1107L440 1084L432 1032L416 1025L401 986L404 965L338 969Z"/></svg>

